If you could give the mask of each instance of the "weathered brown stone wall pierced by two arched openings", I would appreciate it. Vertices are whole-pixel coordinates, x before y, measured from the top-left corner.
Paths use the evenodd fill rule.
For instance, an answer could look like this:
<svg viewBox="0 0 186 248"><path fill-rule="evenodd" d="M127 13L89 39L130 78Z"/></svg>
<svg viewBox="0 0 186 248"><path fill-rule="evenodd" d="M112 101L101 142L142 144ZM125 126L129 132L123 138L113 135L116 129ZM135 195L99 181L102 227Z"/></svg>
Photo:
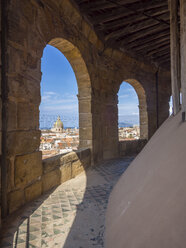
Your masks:
<svg viewBox="0 0 186 248"><path fill-rule="evenodd" d="M79 89L80 147L91 149L92 163L118 156L117 92L123 80L135 79L142 85L148 116L146 132L148 137L155 132L157 68L120 51L104 48L69 0L12 0L8 8L8 27L8 94L4 104L7 113L7 212L11 212L14 198L19 199L20 206L24 204L28 185L33 181L38 183L42 176L38 151L39 105L41 57L47 44L64 52L75 71ZM164 81L164 75L159 79ZM169 85L167 77L164 83ZM167 113L168 109L163 111L162 120ZM31 168L30 179L27 179L24 175Z"/></svg>

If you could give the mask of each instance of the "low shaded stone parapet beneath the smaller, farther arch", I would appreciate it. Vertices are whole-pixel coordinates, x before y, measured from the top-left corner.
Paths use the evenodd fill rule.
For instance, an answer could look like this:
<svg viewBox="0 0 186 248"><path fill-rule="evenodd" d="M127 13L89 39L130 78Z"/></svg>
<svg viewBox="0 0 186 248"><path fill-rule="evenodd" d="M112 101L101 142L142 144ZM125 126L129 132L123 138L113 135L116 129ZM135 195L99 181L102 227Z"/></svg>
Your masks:
<svg viewBox="0 0 186 248"><path fill-rule="evenodd" d="M146 139L120 141L119 155L120 157L137 155L146 144Z"/></svg>

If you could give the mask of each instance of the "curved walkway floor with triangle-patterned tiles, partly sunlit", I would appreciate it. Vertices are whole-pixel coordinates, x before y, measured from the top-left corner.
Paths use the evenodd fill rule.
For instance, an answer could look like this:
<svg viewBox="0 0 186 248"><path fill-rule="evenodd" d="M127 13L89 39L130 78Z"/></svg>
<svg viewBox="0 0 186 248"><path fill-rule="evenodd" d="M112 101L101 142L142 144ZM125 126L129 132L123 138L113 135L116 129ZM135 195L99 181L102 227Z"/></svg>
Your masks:
<svg viewBox="0 0 186 248"><path fill-rule="evenodd" d="M1 248L101 248L109 194L132 157L103 162L11 217Z"/></svg>

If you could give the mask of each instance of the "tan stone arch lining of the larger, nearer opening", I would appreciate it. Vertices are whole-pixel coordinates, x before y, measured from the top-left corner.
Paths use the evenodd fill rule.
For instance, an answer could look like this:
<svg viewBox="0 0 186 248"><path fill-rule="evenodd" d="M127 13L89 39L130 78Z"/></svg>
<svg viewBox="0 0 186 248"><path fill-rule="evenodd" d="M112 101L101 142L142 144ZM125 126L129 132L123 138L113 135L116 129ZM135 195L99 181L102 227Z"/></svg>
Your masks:
<svg viewBox="0 0 186 248"><path fill-rule="evenodd" d="M49 43L67 58L75 73L79 102L79 148L92 148L91 81L77 47L63 38L54 38Z"/></svg>

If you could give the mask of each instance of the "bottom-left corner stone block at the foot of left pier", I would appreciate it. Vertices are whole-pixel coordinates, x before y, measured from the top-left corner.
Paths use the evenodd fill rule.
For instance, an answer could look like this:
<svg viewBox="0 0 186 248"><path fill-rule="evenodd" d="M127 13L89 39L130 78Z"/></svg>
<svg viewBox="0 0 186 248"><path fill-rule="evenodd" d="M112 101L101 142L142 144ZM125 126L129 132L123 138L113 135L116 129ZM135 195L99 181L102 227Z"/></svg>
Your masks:
<svg viewBox="0 0 186 248"><path fill-rule="evenodd" d="M16 190L8 194L8 212L11 214L25 203L24 191Z"/></svg>

